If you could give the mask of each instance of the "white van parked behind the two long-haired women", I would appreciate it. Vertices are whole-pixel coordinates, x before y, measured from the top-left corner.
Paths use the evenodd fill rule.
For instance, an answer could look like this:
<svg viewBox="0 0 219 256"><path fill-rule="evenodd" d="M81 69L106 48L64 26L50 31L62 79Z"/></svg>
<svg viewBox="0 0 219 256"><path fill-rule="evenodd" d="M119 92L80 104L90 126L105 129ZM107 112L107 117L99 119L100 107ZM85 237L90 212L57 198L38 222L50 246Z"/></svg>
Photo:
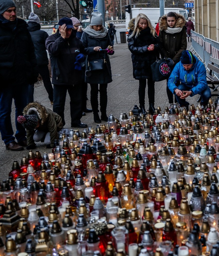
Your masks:
<svg viewBox="0 0 219 256"><path fill-rule="evenodd" d="M186 21L188 21L188 15L187 11L183 8L164 8L164 14L167 14L168 12L176 12L179 14L182 14ZM159 17L160 17L160 8L132 8L132 18L135 18L139 13L144 13L148 16L149 20L151 21L153 27L155 28ZM125 28L126 28L126 34L129 32L129 21L130 21L130 14L125 13Z"/></svg>

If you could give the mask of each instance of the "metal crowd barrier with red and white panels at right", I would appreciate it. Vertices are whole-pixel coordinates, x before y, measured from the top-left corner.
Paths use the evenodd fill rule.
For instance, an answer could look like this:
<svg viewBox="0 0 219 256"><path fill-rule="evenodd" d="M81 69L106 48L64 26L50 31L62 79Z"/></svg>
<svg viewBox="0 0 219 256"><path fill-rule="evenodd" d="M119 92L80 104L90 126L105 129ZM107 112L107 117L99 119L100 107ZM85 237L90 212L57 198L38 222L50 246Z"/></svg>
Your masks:
<svg viewBox="0 0 219 256"><path fill-rule="evenodd" d="M192 47L203 61L205 66L207 67L208 61L210 57L214 57L219 59L219 42L216 42L212 39L206 38L201 34L196 33L191 30L191 38L192 38ZM219 74L214 72L212 75L215 75L219 80Z"/></svg>

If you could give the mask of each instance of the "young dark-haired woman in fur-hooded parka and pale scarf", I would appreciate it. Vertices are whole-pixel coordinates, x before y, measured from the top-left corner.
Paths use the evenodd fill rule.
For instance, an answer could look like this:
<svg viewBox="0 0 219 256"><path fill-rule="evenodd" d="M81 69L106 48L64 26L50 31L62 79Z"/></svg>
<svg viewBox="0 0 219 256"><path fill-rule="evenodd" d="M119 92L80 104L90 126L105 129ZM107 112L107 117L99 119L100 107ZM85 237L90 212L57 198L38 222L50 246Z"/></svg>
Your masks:
<svg viewBox="0 0 219 256"><path fill-rule="evenodd" d="M175 12L169 12L159 19L161 56L171 58L174 65L179 62L182 51L187 48L185 24L185 17ZM167 97L171 106L173 104L173 94L168 86Z"/></svg>

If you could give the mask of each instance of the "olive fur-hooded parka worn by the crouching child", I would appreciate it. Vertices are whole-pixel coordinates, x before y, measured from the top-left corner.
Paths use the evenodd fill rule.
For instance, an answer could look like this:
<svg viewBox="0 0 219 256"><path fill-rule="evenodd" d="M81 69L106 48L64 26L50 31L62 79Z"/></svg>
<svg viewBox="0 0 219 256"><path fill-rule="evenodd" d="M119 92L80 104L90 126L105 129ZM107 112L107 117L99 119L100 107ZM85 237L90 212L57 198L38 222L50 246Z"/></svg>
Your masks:
<svg viewBox="0 0 219 256"><path fill-rule="evenodd" d="M50 146L53 147L53 143L55 139L58 139L58 131L63 128L62 119L57 114L54 113L51 109L45 108L40 105L38 102L29 103L23 110L24 115L36 114L39 121L40 126L36 130L44 131L46 133L50 133ZM33 145L35 131L26 130L27 144Z"/></svg>

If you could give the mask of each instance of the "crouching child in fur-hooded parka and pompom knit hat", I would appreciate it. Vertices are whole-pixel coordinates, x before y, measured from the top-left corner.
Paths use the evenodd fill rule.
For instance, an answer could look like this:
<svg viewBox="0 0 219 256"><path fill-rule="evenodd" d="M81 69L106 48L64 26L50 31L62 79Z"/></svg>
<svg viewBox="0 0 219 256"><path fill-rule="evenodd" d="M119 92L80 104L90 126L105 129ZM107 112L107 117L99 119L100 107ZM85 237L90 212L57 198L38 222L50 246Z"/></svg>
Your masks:
<svg viewBox="0 0 219 256"><path fill-rule="evenodd" d="M17 117L17 121L26 129L27 149L34 149L35 142L39 141L44 141L47 148L52 148L63 128L61 117L38 102L29 103L23 113L24 116Z"/></svg>

